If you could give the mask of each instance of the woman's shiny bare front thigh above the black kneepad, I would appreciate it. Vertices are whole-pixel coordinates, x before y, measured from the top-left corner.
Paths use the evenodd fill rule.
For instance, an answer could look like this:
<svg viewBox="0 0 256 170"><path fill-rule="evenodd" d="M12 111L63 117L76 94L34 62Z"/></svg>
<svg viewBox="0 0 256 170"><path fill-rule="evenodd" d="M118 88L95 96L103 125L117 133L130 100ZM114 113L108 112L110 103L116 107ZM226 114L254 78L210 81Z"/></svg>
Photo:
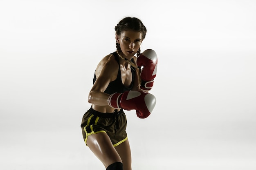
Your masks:
<svg viewBox="0 0 256 170"><path fill-rule="evenodd" d="M102 132L88 136L86 144L103 163L105 168L112 163L122 162L121 157L118 155L117 150L115 150L106 133Z"/></svg>

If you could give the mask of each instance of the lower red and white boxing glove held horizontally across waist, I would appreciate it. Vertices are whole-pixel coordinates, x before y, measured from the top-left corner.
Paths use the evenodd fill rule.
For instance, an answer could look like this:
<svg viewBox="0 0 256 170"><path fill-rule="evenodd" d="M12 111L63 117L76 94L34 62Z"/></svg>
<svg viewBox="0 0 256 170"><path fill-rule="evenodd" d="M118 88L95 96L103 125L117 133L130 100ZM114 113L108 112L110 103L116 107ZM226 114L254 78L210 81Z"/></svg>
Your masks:
<svg viewBox="0 0 256 170"><path fill-rule="evenodd" d="M110 107L136 110L139 118L148 117L155 104L155 96L144 91L126 91L124 93L114 93L108 97L108 105Z"/></svg>

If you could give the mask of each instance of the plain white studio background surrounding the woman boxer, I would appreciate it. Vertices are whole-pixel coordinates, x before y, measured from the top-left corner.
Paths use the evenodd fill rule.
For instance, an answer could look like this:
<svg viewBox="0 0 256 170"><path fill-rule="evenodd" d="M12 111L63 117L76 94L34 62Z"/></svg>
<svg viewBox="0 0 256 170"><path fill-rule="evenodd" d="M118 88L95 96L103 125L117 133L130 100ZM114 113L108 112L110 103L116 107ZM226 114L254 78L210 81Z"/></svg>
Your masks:
<svg viewBox="0 0 256 170"><path fill-rule="evenodd" d="M103 170L81 118L115 25L158 55L157 105L127 111L133 170L256 169L256 1L1 0L0 169Z"/></svg>

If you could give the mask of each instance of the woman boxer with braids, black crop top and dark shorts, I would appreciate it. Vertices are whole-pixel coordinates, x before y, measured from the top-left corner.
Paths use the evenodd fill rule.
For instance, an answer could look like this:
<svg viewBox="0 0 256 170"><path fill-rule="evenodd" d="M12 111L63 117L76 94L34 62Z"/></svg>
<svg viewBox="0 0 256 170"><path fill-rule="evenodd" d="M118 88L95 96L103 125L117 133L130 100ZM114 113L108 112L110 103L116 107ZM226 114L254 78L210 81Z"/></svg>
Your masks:
<svg viewBox="0 0 256 170"><path fill-rule="evenodd" d="M151 106L155 106L155 98L140 90L140 69L134 56L140 55L146 27L141 20L127 17L115 26L115 31L117 51L103 57L95 70L88 96L92 106L83 116L81 127L86 145L106 170L131 170L123 109L136 110L138 117L146 118L152 110L147 110L144 98L150 96ZM126 100L128 95L136 96Z"/></svg>

